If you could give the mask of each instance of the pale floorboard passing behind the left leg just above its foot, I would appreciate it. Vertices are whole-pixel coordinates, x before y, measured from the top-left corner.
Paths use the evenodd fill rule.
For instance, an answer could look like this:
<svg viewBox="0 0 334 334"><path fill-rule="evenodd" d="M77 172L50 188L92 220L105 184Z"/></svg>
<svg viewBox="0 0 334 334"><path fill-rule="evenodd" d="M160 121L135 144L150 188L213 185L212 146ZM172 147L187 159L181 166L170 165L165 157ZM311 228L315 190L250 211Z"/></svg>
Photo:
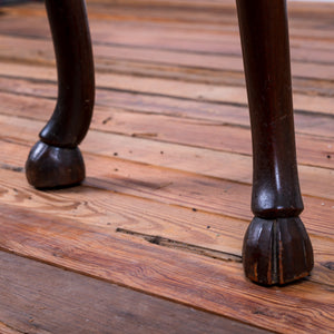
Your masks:
<svg viewBox="0 0 334 334"><path fill-rule="evenodd" d="M11 134L9 138L18 139L16 134L20 134L21 138L24 136L31 144L36 141L35 134L42 128L42 122L28 119L16 119L13 122L8 116L0 116L0 124L8 128ZM18 130L18 126L22 130ZM250 157L233 153L217 153L209 149L154 141L149 138L126 137L101 131L90 131L82 144L82 149L98 155L109 157L116 155L131 161L148 163L247 185L252 181ZM206 165L207 160L210 161L209 166ZM238 166L238 168L235 169L234 166ZM331 169L299 166L299 171L303 194L334 199L332 187L334 175ZM318 178L326 178L328 181L325 185L320 185Z"/></svg>

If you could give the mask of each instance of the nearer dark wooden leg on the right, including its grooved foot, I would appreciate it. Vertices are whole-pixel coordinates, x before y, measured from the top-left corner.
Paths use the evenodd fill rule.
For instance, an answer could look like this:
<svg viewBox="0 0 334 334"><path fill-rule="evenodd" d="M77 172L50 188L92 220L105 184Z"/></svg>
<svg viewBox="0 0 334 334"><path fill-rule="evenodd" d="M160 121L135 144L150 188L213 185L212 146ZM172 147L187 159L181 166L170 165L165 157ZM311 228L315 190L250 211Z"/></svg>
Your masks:
<svg viewBox="0 0 334 334"><path fill-rule="evenodd" d="M264 285L310 274L313 249L298 215L299 190L285 0L237 0L250 111L255 218L243 249L245 274Z"/></svg>

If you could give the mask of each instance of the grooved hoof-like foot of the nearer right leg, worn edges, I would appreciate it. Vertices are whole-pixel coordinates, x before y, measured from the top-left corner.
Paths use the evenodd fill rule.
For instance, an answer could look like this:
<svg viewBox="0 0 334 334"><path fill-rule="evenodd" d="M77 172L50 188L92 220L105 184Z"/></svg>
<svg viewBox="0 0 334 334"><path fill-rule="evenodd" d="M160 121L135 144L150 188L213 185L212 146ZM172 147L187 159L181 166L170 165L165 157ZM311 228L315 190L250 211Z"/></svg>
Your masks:
<svg viewBox="0 0 334 334"><path fill-rule="evenodd" d="M246 276L262 285L283 285L310 275L314 262L311 240L298 217L255 217L245 235Z"/></svg>

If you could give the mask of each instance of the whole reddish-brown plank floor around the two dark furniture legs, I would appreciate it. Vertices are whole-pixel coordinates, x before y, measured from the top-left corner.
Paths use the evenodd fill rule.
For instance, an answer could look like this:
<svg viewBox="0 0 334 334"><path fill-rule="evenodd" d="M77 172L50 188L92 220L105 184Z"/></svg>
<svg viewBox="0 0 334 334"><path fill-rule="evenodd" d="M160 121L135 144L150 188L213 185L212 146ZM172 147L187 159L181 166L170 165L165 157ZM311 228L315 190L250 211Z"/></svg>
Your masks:
<svg viewBox="0 0 334 334"><path fill-rule="evenodd" d="M24 161L57 77L42 4L0 9L0 333L334 333L334 4L289 4L299 177L315 268L243 274L252 147L233 0L89 0L87 179Z"/></svg>

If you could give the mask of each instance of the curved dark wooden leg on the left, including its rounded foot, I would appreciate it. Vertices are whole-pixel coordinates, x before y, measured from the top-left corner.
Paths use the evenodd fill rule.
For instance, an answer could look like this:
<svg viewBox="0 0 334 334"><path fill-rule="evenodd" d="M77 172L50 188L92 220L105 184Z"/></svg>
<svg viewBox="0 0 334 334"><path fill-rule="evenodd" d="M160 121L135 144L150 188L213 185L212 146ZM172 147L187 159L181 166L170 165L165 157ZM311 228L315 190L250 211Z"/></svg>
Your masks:
<svg viewBox="0 0 334 334"><path fill-rule="evenodd" d="M85 0L46 0L58 70L58 100L26 164L37 188L63 187L85 178L78 145L94 108L95 75Z"/></svg>

